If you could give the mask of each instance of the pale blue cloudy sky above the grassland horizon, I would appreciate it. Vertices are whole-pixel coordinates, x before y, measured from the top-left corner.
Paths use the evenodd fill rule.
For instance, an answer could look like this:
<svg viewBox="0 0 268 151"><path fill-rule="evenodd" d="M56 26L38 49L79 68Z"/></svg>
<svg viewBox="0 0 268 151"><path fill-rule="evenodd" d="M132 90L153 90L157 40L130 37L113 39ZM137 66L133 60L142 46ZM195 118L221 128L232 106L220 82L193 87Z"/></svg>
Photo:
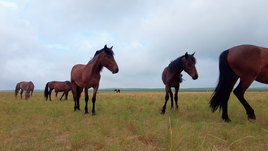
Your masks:
<svg viewBox="0 0 268 151"><path fill-rule="evenodd" d="M2 1L0 90L32 81L69 81L75 64L113 46L119 72L104 68L100 87L164 88L163 69L195 53L199 74L180 88L212 88L218 57L231 47L268 47L268 1ZM251 88L267 87L254 82Z"/></svg>

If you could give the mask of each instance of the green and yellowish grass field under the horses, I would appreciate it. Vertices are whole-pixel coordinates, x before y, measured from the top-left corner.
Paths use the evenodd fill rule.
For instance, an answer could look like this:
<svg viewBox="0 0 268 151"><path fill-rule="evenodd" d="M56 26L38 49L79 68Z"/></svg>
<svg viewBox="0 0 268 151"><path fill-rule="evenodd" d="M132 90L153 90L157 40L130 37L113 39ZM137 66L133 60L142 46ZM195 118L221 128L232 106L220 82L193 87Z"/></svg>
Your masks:
<svg viewBox="0 0 268 151"><path fill-rule="evenodd" d="M231 94L224 123L211 113L212 92L179 92L178 111L160 115L164 92L100 92L97 116L73 112L73 100L15 100L0 93L0 150L268 150L268 92L246 92L256 121L247 121L245 109ZM61 96L61 94L58 94ZM90 94L92 97L92 94ZM92 102L89 101L89 111Z"/></svg>

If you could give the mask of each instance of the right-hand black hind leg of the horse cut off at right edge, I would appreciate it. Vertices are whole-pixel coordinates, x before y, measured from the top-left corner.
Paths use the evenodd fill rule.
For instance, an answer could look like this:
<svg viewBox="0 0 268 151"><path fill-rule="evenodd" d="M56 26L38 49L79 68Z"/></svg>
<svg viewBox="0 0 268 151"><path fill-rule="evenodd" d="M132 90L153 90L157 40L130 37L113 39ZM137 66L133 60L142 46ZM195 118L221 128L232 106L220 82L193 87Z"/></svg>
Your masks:
<svg viewBox="0 0 268 151"><path fill-rule="evenodd" d="M244 98L245 91L247 88L252 84L253 80L241 80L238 86L233 91L234 95L237 97L237 99L241 102L241 104L244 106L247 114L247 119L250 122L254 122L256 120L256 116L254 114L254 110L251 108L251 106L247 103L247 101Z"/></svg>

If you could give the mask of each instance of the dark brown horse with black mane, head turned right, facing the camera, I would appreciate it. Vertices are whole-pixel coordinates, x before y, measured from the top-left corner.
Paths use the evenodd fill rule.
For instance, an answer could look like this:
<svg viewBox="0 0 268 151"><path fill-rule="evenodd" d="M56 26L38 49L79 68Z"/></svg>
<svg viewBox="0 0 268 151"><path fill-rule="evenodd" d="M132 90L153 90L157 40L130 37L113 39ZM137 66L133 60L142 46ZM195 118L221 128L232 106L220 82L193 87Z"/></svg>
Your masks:
<svg viewBox="0 0 268 151"><path fill-rule="evenodd" d="M171 88L175 88L174 100L176 104L176 110L178 108L177 105L177 93L178 89L180 89L180 83L182 83L183 74L181 72L185 70L193 80L197 80L198 73L196 69L196 58L194 54L188 54L187 52L185 55L176 58L175 60L171 61L167 67L164 68L162 72L162 81L165 85L165 104L161 111L161 114L165 113L166 103L169 99L168 93L171 99L171 108L173 108L173 93Z"/></svg>

